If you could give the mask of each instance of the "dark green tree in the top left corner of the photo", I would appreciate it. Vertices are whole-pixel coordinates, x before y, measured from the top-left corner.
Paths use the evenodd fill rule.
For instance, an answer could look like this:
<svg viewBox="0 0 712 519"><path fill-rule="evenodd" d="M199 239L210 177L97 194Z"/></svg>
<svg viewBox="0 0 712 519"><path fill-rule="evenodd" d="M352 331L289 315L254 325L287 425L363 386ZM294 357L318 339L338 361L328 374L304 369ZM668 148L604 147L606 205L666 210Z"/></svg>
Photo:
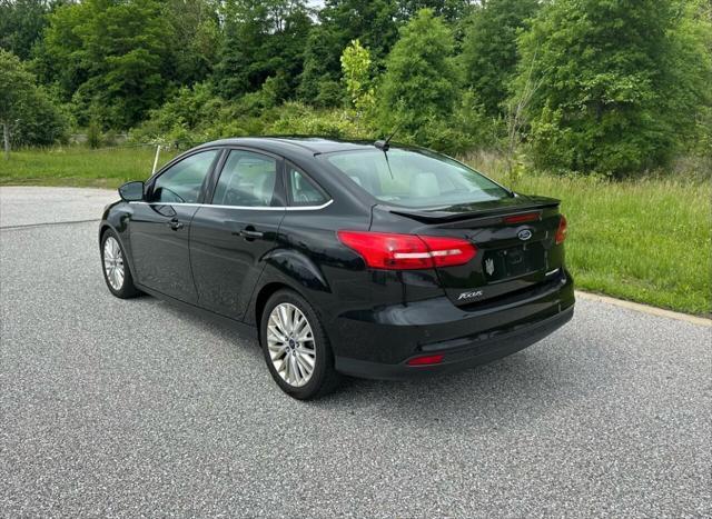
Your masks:
<svg viewBox="0 0 712 519"><path fill-rule="evenodd" d="M47 0L0 0L0 49L29 59L32 46L47 24L44 16L50 3Z"/></svg>

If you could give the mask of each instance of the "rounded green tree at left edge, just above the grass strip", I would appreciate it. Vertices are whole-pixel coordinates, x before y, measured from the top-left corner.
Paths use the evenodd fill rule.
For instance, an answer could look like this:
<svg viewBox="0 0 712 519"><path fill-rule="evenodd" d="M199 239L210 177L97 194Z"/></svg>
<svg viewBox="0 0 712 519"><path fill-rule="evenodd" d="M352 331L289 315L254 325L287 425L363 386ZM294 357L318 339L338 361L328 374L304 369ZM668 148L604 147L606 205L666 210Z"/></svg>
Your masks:
<svg viewBox="0 0 712 519"><path fill-rule="evenodd" d="M10 146L49 144L63 136L66 121L17 56L0 50L0 126L6 159Z"/></svg>

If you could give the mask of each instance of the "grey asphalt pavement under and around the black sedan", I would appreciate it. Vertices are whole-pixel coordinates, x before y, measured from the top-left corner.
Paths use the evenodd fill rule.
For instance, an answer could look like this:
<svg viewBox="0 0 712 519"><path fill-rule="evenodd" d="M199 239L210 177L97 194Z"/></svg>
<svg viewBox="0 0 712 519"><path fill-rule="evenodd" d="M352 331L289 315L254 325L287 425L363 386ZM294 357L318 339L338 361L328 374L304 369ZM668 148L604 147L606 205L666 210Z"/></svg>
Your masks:
<svg viewBox="0 0 712 519"><path fill-rule="evenodd" d="M230 330L112 298L96 231L0 230L2 517L712 515L710 328L581 301L498 362L300 403Z"/></svg>

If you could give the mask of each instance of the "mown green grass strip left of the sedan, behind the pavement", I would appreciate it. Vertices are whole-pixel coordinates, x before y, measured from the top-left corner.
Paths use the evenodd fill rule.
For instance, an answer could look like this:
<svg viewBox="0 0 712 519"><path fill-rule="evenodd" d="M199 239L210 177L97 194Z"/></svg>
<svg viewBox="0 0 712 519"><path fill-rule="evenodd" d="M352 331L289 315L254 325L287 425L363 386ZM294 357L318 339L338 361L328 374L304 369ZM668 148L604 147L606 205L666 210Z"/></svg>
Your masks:
<svg viewBox="0 0 712 519"><path fill-rule="evenodd" d="M82 147L20 150L0 157L0 186L77 186L118 188L151 173L154 147L90 150ZM159 166L176 156L161 150Z"/></svg>

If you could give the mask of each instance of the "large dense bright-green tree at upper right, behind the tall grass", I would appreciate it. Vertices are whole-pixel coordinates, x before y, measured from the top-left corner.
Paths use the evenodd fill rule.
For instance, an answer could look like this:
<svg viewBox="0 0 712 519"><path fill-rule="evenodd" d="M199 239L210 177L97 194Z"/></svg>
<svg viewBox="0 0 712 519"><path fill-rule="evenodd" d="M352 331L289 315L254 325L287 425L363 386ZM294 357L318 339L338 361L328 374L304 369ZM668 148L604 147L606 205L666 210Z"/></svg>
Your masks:
<svg viewBox="0 0 712 519"><path fill-rule="evenodd" d="M537 166L623 176L668 162L676 130L692 123L681 119L690 110L669 109L699 106L681 67L704 59L700 49L680 59L671 8L670 0L544 8L520 41L522 63L534 63L540 83L528 109ZM518 88L527 74L522 67Z"/></svg>

